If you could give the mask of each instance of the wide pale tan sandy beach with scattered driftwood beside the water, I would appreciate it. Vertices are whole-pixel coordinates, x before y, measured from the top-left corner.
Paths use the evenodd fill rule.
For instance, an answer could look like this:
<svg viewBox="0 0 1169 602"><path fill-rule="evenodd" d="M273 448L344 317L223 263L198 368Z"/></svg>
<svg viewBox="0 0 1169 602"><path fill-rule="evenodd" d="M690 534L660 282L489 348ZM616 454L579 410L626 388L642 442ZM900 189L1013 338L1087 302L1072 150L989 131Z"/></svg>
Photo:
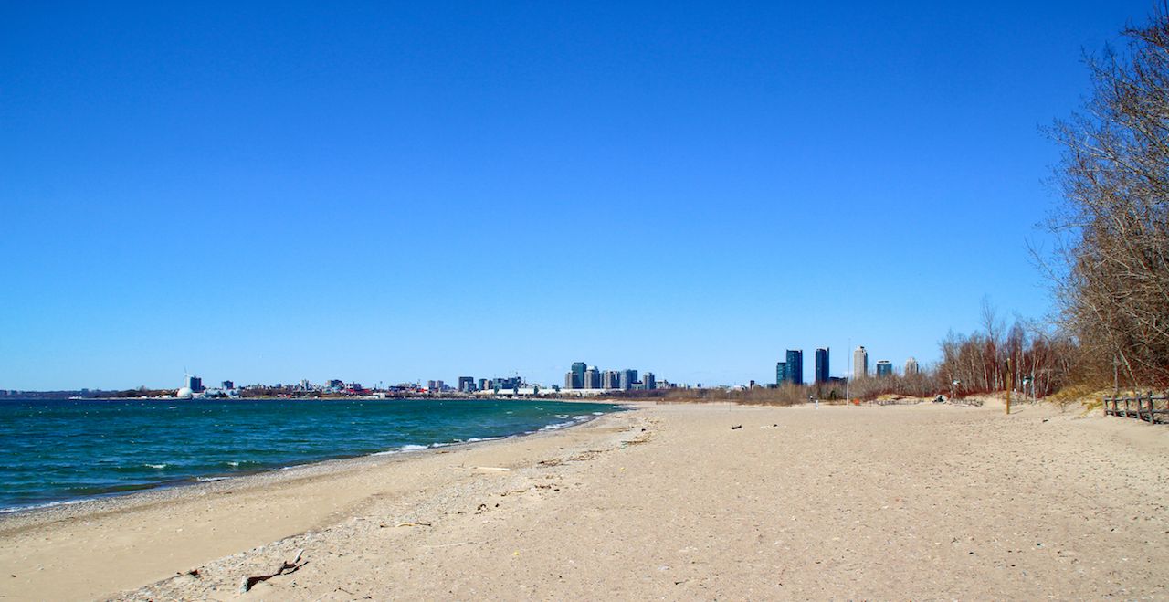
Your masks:
<svg viewBox="0 0 1169 602"><path fill-rule="evenodd" d="M641 406L6 517L0 598L1162 598L1167 451L1038 406Z"/></svg>

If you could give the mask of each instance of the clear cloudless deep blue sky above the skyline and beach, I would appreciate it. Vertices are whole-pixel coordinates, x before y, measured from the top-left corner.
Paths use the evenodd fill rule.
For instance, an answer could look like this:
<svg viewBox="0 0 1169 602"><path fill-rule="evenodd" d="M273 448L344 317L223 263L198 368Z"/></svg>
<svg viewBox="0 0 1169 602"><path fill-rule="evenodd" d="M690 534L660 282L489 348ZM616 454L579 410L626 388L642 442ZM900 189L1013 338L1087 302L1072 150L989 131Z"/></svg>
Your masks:
<svg viewBox="0 0 1169 602"><path fill-rule="evenodd" d="M330 5L0 0L0 388L935 361L1153 7Z"/></svg>

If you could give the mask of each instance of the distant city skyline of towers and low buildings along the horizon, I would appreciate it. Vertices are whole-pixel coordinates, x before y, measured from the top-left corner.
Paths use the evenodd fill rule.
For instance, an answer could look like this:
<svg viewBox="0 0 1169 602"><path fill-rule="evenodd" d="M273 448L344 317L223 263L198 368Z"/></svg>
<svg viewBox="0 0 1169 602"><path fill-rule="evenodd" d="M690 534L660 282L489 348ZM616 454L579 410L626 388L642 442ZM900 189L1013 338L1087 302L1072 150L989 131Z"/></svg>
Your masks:
<svg viewBox="0 0 1169 602"><path fill-rule="evenodd" d="M852 351L850 374L853 380L870 376L869 351L859 346ZM814 385L843 386L846 385L848 376L831 375L831 351L828 347L819 347L815 352L815 369L812 371ZM914 375L920 373L918 360L908 358L905 360L902 375ZM803 350L787 350L783 360L775 364L775 382L759 383L754 380L745 385L719 385L704 387L703 383L694 386L679 385L665 379L658 379L652 372L638 372L632 368L601 369L583 361L572 364L565 373L563 385L556 383L545 386L538 382L528 382L527 379L514 374L511 376L480 378L459 376L451 386L443 380L428 380L417 382L400 382L396 385L383 385L381 382L372 386L364 386L360 382L351 382L341 379L331 379L323 383L311 382L302 379L296 383L277 382L272 385L244 385L236 386L234 381L220 381L217 387L207 387L203 379L187 374L182 386L178 389L150 389L138 387L127 390L98 390L79 389L69 392L28 392L28 390L5 390L0 389L0 396L22 396L28 394L68 393L77 397L171 397L171 399L230 399L249 396L274 396L274 397L323 397L323 396L362 396L362 397L406 397L420 395L449 395L449 396L537 396L537 395L560 395L560 396L595 396L595 395L620 395L623 392L651 392L663 389L691 389L691 388L720 388L720 389L752 389L752 388L777 388L786 385L804 385ZM893 362L890 360L877 360L873 375L878 379L893 376Z"/></svg>

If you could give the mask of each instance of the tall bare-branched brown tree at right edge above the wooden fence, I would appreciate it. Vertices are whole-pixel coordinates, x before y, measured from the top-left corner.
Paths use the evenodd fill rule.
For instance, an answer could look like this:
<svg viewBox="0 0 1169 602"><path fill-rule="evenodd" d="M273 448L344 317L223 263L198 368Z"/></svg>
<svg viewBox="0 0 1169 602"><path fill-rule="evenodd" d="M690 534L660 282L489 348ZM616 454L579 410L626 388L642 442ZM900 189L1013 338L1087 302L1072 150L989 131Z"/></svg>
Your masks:
<svg viewBox="0 0 1169 602"><path fill-rule="evenodd" d="M1111 374L1169 386L1169 12L1086 58L1091 99L1051 130L1063 146L1053 216L1061 323Z"/></svg>

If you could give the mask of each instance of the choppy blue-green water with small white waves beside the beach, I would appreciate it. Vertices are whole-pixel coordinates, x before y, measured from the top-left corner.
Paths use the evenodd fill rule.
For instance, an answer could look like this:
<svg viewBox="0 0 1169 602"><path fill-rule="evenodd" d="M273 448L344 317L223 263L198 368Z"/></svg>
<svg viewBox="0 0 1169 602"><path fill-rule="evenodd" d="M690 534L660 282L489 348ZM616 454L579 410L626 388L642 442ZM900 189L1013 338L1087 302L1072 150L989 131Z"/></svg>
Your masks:
<svg viewBox="0 0 1169 602"><path fill-rule="evenodd" d="M507 437L616 409L505 400L0 401L0 510Z"/></svg>

